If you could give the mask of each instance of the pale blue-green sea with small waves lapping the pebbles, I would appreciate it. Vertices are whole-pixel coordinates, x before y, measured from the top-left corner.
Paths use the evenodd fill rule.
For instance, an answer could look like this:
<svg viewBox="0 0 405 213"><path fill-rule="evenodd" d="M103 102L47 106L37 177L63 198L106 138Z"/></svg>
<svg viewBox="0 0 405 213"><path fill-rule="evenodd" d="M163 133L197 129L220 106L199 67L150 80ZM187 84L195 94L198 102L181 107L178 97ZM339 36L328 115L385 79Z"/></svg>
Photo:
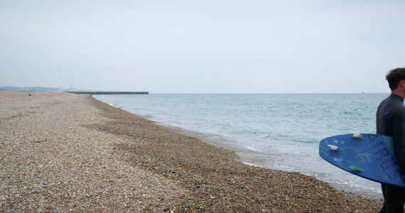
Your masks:
<svg viewBox="0 0 405 213"><path fill-rule="evenodd" d="M94 95L157 124L182 129L235 151L262 168L311 175L356 195L382 199L377 182L322 160L322 138L376 133L378 104L389 94Z"/></svg>

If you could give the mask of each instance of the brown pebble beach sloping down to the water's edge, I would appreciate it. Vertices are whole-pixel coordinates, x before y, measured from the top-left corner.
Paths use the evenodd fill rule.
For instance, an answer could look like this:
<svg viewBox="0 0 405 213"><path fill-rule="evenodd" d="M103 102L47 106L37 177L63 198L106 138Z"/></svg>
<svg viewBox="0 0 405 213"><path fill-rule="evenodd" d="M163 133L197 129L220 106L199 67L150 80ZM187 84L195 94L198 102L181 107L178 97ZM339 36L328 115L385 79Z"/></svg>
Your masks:
<svg viewBox="0 0 405 213"><path fill-rule="evenodd" d="M87 94L0 92L0 212L379 212Z"/></svg>

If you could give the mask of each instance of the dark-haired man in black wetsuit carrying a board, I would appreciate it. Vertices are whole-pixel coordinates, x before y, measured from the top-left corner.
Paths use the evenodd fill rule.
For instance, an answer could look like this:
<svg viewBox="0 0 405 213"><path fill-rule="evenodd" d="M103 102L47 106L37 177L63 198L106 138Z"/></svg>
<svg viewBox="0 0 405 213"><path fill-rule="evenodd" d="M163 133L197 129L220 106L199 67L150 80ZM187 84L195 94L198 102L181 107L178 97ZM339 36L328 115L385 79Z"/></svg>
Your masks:
<svg viewBox="0 0 405 213"><path fill-rule="evenodd" d="M394 138L394 152L405 171L405 67L386 74L391 95L377 109L377 134ZM404 212L405 189L382 184L384 206L382 212Z"/></svg>

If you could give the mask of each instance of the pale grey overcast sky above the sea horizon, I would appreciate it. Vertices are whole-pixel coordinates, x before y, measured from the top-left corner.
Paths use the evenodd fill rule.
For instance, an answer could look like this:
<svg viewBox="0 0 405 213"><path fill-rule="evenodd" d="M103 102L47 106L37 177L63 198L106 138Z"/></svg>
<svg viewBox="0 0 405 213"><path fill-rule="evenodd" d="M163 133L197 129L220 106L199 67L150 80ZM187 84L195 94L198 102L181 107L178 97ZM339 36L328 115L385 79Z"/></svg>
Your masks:
<svg viewBox="0 0 405 213"><path fill-rule="evenodd" d="M0 0L0 86L389 92L405 1Z"/></svg>

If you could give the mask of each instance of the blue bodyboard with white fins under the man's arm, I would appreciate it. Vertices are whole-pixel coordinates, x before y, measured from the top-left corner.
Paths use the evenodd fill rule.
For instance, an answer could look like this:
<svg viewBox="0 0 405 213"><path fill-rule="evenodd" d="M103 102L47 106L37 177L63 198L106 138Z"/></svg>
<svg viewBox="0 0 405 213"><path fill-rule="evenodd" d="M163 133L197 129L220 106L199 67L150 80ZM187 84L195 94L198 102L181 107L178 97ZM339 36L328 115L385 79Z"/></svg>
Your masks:
<svg viewBox="0 0 405 213"><path fill-rule="evenodd" d="M320 141L319 153L327 162L354 175L405 187L405 173L396 160L390 136L367 133L332 136Z"/></svg>

